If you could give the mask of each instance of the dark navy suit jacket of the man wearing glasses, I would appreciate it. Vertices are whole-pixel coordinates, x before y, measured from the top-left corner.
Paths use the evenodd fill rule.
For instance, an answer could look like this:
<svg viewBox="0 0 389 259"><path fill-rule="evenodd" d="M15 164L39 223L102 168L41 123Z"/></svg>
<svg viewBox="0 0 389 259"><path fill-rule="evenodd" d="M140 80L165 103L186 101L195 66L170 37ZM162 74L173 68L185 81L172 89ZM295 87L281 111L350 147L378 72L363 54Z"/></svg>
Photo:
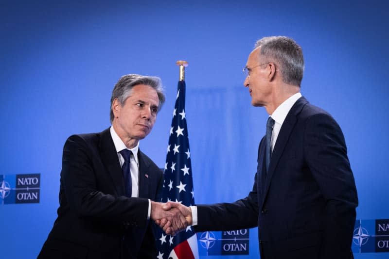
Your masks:
<svg viewBox="0 0 389 259"><path fill-rule="evenodd" d="M344 259L358 198L343 133L301 97L287 114L265 169L265 137L252 191L234 203L199 205L196 231L258 226L261 259Z"/></svg>

